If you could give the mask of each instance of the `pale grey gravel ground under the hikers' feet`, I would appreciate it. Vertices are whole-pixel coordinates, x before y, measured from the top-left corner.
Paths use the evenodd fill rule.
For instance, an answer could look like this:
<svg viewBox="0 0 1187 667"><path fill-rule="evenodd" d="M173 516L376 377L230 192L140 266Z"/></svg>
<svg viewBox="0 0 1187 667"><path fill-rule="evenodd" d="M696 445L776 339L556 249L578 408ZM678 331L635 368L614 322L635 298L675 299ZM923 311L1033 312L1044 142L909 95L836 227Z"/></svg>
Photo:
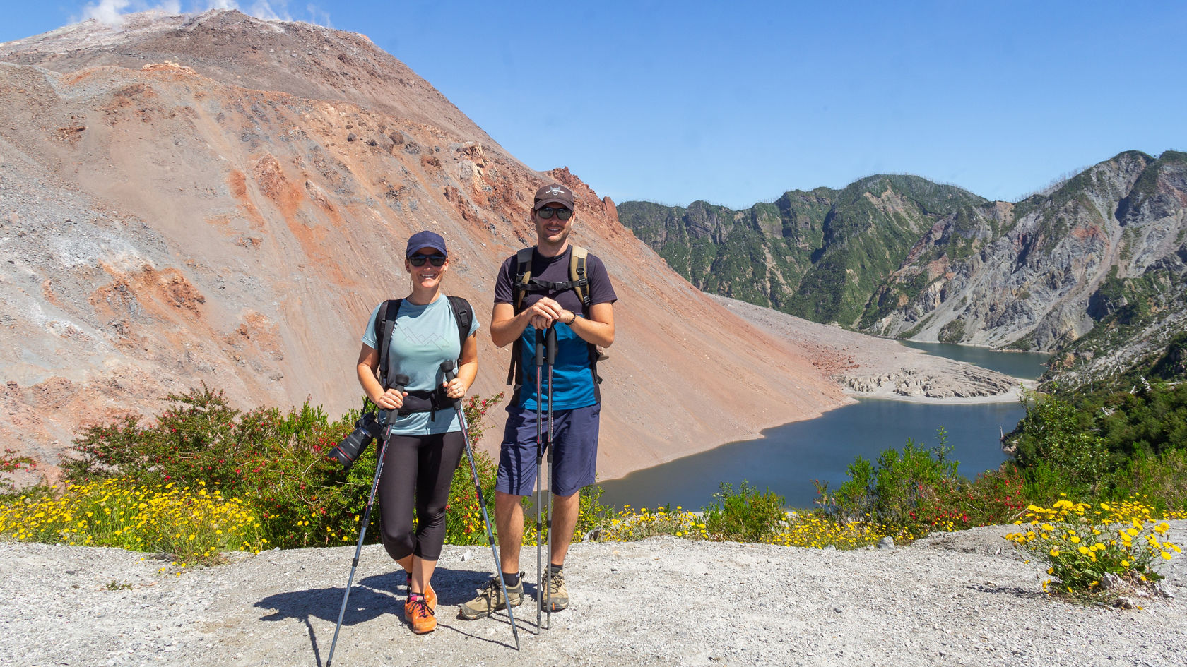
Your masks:
<svg viewBox="0 0 1187 667"><path fill-rule="evenodd" d="M539 635L534 604L518 608L520 652L504 614L466 622L451 609L488 577L489 552L445 547L433 577L440 625L415 636L401 616L402 576L369 546L335 663L1183 663L1181 595L1142 610L1053 601L1005 532L856 552L675 538L575 545L572 605ZM1187 542L1187 521L1173 522L1170 539ZM236 554L176 577L121 550L0 544L0 665L322 666L353 551ZM1182 557L1163 573L1185 590Z"/></svg>

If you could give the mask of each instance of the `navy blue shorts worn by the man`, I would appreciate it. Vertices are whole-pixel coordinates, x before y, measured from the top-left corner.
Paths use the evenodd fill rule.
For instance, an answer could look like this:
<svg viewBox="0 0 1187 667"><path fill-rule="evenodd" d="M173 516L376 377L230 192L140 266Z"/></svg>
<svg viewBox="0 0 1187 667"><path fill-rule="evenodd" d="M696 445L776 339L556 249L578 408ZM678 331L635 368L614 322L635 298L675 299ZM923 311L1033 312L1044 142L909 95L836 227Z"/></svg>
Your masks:
<svg viewBox="0 0 1187 667"><path fill-rule="evenodd" d="M595 482L597 428L602 404L552 412L552 493L571 496ZM540 442L548 443L548 413L540 414ZM535 493L535 408L507 406L495 490L513 496ZM545 452L541 465L548 464Z"/></svg>

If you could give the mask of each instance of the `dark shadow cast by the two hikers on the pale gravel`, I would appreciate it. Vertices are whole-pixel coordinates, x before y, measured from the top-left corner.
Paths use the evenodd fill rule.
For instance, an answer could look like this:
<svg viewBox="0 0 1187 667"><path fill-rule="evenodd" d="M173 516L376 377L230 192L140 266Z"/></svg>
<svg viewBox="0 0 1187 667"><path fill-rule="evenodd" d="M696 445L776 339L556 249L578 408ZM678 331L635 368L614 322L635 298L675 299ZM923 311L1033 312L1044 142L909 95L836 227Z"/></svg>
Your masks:
<svg viewBox="0 0 1187 667"><path fill-rule="evenodd" d="M347 576L349 572L344 572L343 574ZM457 621L455 618L455 610L451 609L472 598L475 590L480 589L488 577L489 574L483 572L471 572L469 570L453 571L446 567L437 567L433 572L433 590L437 591L437 631L447 629L476 640L514 648L515 644L510 641L510 622L507 618L506 611L491 617L491 620L508 627L508 641L502 642L480 637L464 630L463 628L466 622ZM312 644L313 658L317 660L318 667L320 667L323 663L320 647L317 633L310 620L320 618L336 624L338 622L338 611L342 609L343 591L342 586L290 591L271 595L256 602L254 606L268 610L267 614L260 617L261 621L297 618L304 622L305 629L309 631L310 643ZM399 567L394 572L373 574L355 582L350 587L350 598L342 616L343 631L353 625L374 621L385 614L393 614L401 623L406 623L404 621L404 599L406 595L404 571ZM525 598L525 602L527 602L527 598ZM526 606L519 606L516 610L525 609ZM519 624L520 621L516 618L516 625ZM339 635L339 639L342 636ZM332 634L330 637L332 639Z"/></svg>

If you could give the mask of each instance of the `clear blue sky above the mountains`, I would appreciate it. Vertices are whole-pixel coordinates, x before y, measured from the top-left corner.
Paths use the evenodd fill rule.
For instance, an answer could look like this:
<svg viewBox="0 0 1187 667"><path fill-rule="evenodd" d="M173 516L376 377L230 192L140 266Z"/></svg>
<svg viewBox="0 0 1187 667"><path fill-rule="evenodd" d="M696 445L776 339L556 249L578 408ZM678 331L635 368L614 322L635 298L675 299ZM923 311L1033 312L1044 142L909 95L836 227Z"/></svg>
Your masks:
<svg viewBox="0 0 1187 667"><path fill-rule="evenodd" d="M616 202L744 208L916 173L1016 201L1187 151L1182 2L286 2L6 8L0 42L148 7L362 32L528 166Z"/></svg>

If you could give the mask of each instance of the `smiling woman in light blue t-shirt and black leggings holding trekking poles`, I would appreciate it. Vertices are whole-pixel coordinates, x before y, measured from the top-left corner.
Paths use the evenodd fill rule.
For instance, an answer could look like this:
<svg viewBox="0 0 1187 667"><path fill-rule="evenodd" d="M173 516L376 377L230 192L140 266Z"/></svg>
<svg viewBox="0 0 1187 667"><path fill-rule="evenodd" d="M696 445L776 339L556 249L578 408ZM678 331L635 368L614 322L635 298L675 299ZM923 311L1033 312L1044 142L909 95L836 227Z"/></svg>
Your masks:
<svg viewBox="0 0 1187 667"><path fill-rule="evenodd" d="M405 250L404 267L412 275L412 292L396 306L399 312L389 336L386 377L404 374L410 382L401 393L382 387L376 379L381 357L375 339L375 320L380 312L376 306L362 337L358 383L380 409L396 411L391 413L392 436L379 482L381 534L387 553L407 574L408 599L404 615L412 631L419 635L437 628L437 593L429 579L445 541L450 482L465 449L452 401L465 396L478 371L475 338L478 322L471 316L469 333L464 341L458 341L461 333L453 304L442 293L449 254L439 235L432 231L413 234ZM440 366L449 360L458 360L458 370L457 377L446 382ZM413 502L419 516L415 532L412 528Z"/></svg>

